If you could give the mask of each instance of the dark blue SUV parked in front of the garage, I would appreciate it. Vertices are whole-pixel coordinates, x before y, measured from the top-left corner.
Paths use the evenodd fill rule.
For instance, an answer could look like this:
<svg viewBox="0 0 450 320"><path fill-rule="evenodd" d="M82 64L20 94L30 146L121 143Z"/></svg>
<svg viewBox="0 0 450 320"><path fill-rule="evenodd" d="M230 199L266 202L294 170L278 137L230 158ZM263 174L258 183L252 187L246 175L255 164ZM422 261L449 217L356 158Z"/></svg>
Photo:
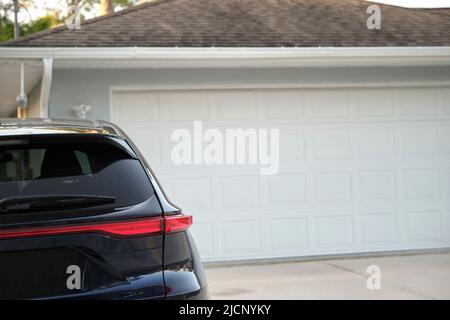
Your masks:
<svg viewBox="0 0 450 320"><path fill-rule="evenodd" d="M205 299L191 224L113 124L0 120L1 299Z"/></svg>

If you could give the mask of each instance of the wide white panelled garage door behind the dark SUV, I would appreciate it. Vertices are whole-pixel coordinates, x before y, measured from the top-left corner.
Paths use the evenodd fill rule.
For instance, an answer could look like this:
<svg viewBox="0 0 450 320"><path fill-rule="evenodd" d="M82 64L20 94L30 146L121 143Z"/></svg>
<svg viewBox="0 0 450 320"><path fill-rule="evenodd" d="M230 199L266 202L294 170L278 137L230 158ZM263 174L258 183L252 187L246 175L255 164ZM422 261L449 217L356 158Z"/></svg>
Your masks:
<svg viewBox="0 0 450 320"><path fill-rule="evenodd" d="M450 88L120 90L112 120L204 260L450 246ZM171 162L174 129L279 128L280 172Z"/></svg>

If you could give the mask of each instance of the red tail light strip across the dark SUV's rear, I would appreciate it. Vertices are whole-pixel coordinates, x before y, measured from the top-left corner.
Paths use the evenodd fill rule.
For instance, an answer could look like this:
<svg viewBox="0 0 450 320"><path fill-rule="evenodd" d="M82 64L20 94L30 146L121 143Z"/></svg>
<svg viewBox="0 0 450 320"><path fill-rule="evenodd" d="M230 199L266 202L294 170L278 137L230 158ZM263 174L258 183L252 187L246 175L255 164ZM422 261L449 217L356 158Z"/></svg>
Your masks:
<svg viewBox="0 0 450 320"><path fill-rule="evenodd" d="M187 230L191 225L192 216L179 214L167 217L152 217L148 219L120 222L6 229L0 230L0 239L75 233L99 233L111 237L136 237L179 232Z"/></svg>

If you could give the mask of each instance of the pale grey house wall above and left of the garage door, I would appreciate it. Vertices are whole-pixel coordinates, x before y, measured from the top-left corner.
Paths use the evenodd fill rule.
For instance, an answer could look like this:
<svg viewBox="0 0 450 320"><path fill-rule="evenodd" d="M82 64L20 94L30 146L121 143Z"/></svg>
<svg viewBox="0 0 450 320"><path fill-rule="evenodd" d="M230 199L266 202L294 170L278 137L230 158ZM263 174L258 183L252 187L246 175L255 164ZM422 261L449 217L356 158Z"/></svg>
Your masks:
<svg viewBox="0 0 450 320"><path fill-rule="evenodd" d="M314 85L392 82L450 82L450 67L302 68L302 69L56 69L49 116L74 118L73 105L89 104L89 119L110 120L111 86Z"/></svg>

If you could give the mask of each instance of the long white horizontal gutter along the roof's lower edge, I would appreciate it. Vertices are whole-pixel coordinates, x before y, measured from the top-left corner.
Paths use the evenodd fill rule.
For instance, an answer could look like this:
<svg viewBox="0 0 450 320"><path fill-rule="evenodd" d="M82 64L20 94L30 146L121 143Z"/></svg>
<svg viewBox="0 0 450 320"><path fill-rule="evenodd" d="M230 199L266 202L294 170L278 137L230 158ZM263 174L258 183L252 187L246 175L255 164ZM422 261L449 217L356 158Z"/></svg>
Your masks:
<svg viewBox="0 0 450 320"><path fill-rule="evenodd" d="M15 48L0 59L53 58L55 68L74 62L146 62L150 67L196 66L399 66L450 65L450 47L319 48ZM101 63L98 64L97 62Z"/></svg>

